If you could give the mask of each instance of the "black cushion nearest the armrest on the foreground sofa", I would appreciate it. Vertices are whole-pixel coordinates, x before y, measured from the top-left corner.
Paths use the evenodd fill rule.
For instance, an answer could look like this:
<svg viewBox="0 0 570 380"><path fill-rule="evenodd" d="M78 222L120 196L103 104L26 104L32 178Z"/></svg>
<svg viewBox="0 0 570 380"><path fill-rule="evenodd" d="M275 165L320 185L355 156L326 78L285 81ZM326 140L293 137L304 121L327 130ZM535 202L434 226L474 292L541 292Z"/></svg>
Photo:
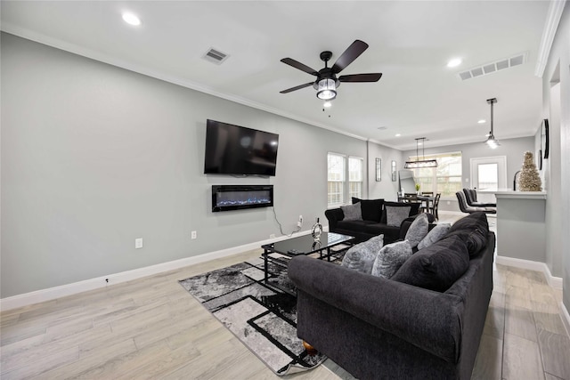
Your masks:
<svg viewBox="0 0 570 380"><path fill-rule="evenodd" d="M468 266L469 255L465 243L459 237L452 236L412 255L392 279L444 292L467 271Z"/></svg>

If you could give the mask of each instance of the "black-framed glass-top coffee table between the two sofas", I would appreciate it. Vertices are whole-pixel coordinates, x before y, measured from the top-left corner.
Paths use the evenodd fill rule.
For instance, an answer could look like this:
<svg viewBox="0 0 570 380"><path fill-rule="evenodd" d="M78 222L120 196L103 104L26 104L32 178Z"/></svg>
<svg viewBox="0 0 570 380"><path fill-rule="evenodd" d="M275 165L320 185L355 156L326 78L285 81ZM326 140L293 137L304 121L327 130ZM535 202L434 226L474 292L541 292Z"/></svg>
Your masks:
<svg viewBox="0 0 570 380"><path fill-rule="evenodd" d="M287 267L291 258L297 255L318 254L316 258L330 261L331 255L352 246L350 244L352 239L354 239L354 236L322 232L319 240L314 240L311 235L305 235L261 246L264 248L262 256L264 258L265 284L271 287L278 287L282 291L295 295L289 286L282 284L282 282L287 282L289 279L287 277ZM346 247L339 250L332 249L341 244L346 244ZM270 266L273 266L272 264L275 266L274 268L281 271L272 271L272 268L270 268ZM278 279L280 276L285 277L281 280L281 284L277 280L270 282L270 279Z"/></svg>

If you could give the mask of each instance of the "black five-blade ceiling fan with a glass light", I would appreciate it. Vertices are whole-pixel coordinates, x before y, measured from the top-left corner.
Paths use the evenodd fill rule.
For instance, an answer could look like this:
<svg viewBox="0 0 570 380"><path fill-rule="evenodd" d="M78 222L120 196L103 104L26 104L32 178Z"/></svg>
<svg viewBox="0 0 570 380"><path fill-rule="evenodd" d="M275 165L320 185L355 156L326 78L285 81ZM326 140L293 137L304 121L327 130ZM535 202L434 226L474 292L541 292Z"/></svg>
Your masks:
<svg viewBox="0 0 570 380"><path fill-rule="evenodd" d="M378 82L382 73L370 73L370 74L351 74L346 76L337 77L346 66L350 65L360 54L368 49L368 44L361 40L355 40L344 53L338 57L338 60L332 65L331 68L327 66L327 62L330 61L332 57L331 52L322 52L321 60L324 61L324 68L319 71L311 69L305 64L295 61L291 58L283 58L281 62L288 64L289 66L305 71L305 73L311 74L316 78L314 82L305 83L305 85L297 85L295 87L288 88L287 90L280 91L280 93L291 93L293 91L300 90L301 88L313 85L314 89L317 90L317 98L323 101L331 101L337 97L337 87L341 82Z"/></svg>

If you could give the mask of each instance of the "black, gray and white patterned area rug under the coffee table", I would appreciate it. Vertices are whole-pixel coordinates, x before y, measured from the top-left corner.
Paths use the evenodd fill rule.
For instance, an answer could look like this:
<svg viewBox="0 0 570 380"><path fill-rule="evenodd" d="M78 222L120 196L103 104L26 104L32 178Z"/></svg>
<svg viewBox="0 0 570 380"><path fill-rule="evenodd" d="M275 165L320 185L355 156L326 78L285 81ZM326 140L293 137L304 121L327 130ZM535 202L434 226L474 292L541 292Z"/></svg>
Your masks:
<svg viewBox="0 0 570 380"><path fill-rule="evenodd" d="M294 293L286 271L270 265L275 273L270 283ZM283 376L312 369L327 359L322 354L309 355L297 338L297 299L265 285L263 259L248 260L179 282L275 374Z"/></svg>

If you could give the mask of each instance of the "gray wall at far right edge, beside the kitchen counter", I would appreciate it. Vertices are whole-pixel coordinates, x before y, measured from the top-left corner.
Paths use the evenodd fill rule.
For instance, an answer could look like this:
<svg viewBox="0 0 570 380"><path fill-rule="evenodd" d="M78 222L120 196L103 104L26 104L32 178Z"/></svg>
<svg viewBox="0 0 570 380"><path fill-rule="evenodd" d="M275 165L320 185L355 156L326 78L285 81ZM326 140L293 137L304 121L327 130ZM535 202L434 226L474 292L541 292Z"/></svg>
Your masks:
<svg viewBox="0 0 570 380"><path fill-rule="evenodd" d="M570 311L570 5L558 25L542 76L542 112L550 120L550 158L545 161L546 262L563 279L563 298ZM559 93L552 92L558 85ZM558 110L557 110L558 109Z"/></svg>

